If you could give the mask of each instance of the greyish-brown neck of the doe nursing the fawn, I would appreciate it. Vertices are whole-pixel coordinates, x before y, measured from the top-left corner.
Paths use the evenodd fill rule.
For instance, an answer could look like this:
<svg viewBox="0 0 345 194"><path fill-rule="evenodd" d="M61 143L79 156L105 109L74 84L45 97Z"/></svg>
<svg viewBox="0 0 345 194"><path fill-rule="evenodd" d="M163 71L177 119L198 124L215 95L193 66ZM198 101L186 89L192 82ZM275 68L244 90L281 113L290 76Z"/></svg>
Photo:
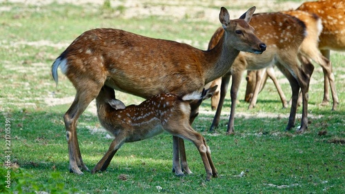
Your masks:
<svg viewBox="0 0 345 194"><path fill-rule="evenodd" d="M224 33L215 48L205 51L205 84L225 75L230 70L237 55L239 55L239 50L232 46L231 40Z"/></svg>

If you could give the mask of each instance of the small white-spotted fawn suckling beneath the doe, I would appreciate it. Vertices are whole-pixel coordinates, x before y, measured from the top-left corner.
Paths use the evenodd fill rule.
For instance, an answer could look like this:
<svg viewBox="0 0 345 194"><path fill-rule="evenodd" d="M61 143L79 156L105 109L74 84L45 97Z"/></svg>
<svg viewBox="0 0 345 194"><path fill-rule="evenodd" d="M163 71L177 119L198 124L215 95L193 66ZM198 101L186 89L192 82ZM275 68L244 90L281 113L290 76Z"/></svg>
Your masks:
<svg viewBox="0 0 345 194"><path fill-rule="evenodd" d="M166 130L171 135L193 142L204 162L206 180L217 177L217 169L210 156L210 148L202 135L190 126L190 101L201 104L201 101L212 96L217 86L204 90L203 93L192 93L177 97L171 93L155 95L135 106L127 106L115 99L114 89L103 86L96 97L97 114L101 125L114 135L108 151L93 168L92 173L105 171L112 157L125 142L136 142L148 139ZM178 162L175 164L179 164ZM180 168L180 167L175 167ZM183 175L175 171L176 175Z"/></svg>

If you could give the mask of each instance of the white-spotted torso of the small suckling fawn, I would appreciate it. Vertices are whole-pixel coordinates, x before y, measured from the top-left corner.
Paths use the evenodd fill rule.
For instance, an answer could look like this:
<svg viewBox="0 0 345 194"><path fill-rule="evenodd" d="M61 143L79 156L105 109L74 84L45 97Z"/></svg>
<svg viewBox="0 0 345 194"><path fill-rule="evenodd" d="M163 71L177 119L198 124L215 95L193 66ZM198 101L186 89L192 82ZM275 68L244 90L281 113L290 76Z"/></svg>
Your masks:
<svg viewBox="0 0 345 194"><path fill-rule="evenodd" d="M189 102L172 94L155 95L139 105L118 110L98 100L97 109L102 126L115 137L124 135L126 142L153 137L164 128L180 128L184 122L189 123L190 115Z"/></svg>

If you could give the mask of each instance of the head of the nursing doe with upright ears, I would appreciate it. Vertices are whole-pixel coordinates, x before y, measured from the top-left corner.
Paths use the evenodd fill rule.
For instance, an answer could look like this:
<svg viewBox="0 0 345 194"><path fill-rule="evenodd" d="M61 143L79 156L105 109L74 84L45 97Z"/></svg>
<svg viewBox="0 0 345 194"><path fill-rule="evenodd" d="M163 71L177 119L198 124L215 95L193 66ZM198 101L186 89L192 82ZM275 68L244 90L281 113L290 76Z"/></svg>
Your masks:
<svg viewBox="0 0 345 194"><path fill-rule="evenodd" d="M262 54L266 50L266 44L254 34L254 28L248 24L254 11L255 7L250 8L239 19L230 20L228 10L222 7L219 21L225 30L226 41L230 41L235 49Z"/></svg>

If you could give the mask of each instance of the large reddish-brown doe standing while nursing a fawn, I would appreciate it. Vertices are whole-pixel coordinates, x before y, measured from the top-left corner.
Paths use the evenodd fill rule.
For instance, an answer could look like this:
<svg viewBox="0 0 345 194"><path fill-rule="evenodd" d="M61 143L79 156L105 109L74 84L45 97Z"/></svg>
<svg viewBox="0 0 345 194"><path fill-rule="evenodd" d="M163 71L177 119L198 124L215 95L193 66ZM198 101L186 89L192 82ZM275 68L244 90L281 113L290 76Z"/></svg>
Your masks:
<svg viewBox="0 0 345 194"><path fill-rule="evenodd" d="M72 105L63 116L66 126L70 171L88 171L79 150L77 119L97 97L103 85L148 99L160 93L183 96L202 90L205 84L224 75L239 51L261 54L266 49L249 26L255 7L240 19L230 20L221 8L219 21L224 35L212 50L199 50L185 43L153 39L115 29L84 32L52 64L77 90ZM177 141L174 138L174 144ZM183 145L180 145L183 147Z"/></svg>

